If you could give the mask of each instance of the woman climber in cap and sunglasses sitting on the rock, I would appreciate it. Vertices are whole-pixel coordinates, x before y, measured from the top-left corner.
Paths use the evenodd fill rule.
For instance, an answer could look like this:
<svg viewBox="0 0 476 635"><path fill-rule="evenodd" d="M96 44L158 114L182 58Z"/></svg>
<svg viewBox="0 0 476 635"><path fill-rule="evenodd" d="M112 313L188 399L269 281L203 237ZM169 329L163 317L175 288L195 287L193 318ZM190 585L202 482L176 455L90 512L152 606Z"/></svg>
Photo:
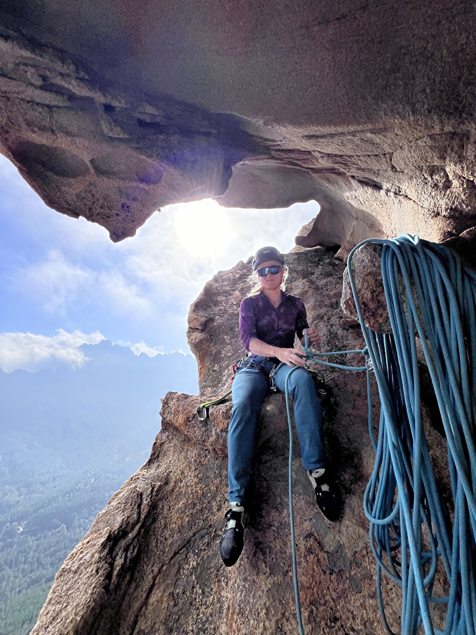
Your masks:
<svg viewBox="0 0 476 635"><path fill-rule="evenodd" d="M237 370L232 385L232 415L228 427L228 500L231 509L225 514L226 525L220 540L220 556L226 566L233 566L244 544L244 512L253 473L255 430L261 402L270 390L270 373L274 385L284 392L289 368L299 366L289 378L296 430L301 457L315 491L317 504L326 518L339 518L338 498L326 475L326 455L322 440L322 408L312 377L304 366L302 351L294 348L297 333L301 343L307 331L311 343L319 342L317 330L309 328L301 298L282 290L287 273L284 258L274 247L263 247L253 258L255 286L242 300L240 332L249 357Z"/></svg>

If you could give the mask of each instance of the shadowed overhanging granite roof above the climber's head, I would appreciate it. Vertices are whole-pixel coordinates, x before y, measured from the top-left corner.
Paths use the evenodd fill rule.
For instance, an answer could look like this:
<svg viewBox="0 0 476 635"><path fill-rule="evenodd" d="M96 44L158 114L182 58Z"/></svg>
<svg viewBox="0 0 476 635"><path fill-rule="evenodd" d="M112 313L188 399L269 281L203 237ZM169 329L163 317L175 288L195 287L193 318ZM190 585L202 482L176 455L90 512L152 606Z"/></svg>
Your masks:
<svg viewBox="0 0 476 635"><path fill-rule="evenodd" d="M475 18L465 0L7 0L0 151L114 240L217 196L316 199L300 244L341 255L440 242L476 226Z"/></svg>

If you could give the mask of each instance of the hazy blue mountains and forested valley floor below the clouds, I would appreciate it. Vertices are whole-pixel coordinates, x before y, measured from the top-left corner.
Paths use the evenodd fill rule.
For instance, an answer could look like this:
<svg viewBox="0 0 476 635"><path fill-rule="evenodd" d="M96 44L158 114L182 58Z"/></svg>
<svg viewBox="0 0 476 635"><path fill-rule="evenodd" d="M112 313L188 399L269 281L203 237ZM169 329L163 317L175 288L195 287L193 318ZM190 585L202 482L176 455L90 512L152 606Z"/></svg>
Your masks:
<svg viewBox="0 0 476 635"><path fill-rule="evenodd" d="M179 353L84 345L76 370L0 371L0 635L27 635L55 573L147 460L160 398L196 391Z"/></svg>

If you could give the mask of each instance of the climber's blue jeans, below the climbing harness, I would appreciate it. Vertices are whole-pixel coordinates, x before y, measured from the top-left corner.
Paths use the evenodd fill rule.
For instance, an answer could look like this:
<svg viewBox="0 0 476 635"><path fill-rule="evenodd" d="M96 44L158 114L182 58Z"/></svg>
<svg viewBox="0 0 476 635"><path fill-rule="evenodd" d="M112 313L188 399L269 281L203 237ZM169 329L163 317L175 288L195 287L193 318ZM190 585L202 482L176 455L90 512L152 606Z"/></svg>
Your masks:
<svg viewBox="0 0 476 635"><path fill-rule="evenodd" d="M261 363L263 358L253 358ZM265 362L269 373L272 362ZM283 364L274 373L274 384L284 392L284 382L291 368ZM305 469L326 467L322 436L322 407L314 381L304 368L295 370L289 378L289 395L293 399L296 431L301 444ZM256 443L256 422L261 403L269 392L269 379L258 368L245 367L237 371L232 385L232 416L228 427L228 500L245 502L251 475Z"/></svg>

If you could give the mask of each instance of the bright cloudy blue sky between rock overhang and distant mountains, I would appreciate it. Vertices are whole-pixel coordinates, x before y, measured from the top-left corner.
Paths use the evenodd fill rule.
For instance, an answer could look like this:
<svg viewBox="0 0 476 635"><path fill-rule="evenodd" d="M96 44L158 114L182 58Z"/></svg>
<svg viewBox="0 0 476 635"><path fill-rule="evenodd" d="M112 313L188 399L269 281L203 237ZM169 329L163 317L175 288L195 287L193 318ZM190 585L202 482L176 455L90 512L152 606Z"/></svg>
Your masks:
<svg viewBox="0 0 476 635"><path fill-rule="evenodd" d="M188 349L190 304L206 281L267 244L286 253L315 201L287 210L170 205L112 243L84 218L48 208L0 156L0 368L84 364L103 338L151 356Z"/></svg>

